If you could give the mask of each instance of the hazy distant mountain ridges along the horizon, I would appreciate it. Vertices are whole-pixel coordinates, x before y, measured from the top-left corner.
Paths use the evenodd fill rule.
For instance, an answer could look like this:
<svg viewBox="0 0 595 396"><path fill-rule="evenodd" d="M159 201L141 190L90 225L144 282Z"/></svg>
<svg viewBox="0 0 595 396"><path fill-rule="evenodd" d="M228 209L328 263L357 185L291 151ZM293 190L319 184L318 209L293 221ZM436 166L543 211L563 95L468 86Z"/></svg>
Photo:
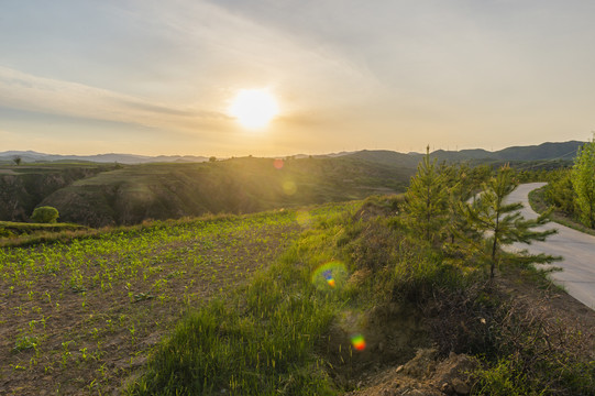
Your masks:
<svg viewBox="0 0 595 396"><path fill-rule="evenodd" d="M437 150L431 157L439 161L571 161L576 151L585 142L570 141L559 143L542 143L530 146L513 146L504 150L489 152L483 148L444 151ZM307 154L294 155L295 158L308 157ZM359 152L341 152L326 155L313 155L313 157L353 157L390 166L416 167L423 154L398 153L388 150L363 150ZM159 155L145 156L134 154L97 154L97 155L58 155L44 154L33 151L7 151L0 153L0 162L12 162L20 157L23 163L35 162L92 162L92 163L119 163L119 164L146 164L146 163L199 163L209 158L194 155Z"/></svg>

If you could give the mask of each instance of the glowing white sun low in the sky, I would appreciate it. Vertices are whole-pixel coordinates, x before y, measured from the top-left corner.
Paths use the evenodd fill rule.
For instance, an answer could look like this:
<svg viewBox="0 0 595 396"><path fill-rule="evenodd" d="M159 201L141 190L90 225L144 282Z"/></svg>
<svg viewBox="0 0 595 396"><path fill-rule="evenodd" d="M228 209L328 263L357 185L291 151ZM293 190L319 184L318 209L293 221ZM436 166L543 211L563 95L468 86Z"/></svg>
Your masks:
<svg viewBox="0 0 595 396"><path fill-rule="evenodd" d="M267 89L240 90L228 111L231 117L249 129L268 125L278 112L277 101Z"/></svg>

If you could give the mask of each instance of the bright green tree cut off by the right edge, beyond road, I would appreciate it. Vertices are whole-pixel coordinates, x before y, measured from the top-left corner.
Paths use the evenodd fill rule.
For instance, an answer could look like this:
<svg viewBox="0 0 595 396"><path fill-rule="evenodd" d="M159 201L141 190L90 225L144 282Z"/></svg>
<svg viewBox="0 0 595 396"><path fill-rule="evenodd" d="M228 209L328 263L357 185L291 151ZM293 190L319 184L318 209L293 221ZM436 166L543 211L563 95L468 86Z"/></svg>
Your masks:
<svg viewBox="0 0 595 396"><path fill-rule="evenodd" d="M581 219L586 227L595 228L595 141L579 148L571 178Z"/></svg>

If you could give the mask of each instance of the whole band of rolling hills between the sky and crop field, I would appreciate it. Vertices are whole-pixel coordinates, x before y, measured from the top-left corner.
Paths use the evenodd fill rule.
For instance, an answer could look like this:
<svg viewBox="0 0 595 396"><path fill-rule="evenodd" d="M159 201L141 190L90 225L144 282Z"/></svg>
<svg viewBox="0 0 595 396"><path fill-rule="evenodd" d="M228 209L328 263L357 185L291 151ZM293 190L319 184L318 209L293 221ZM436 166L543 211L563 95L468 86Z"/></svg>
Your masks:
<svg viewBox="0 0 595 396"><path fill-rule="evenodd" d="M472 165L510 162L519 168L550 168L571 164L582 144L543 143L497 152L436 151L431 156ZM188 156L4 152L0 160L8 163L20 156L23 165L0 166L0 220L27 221L33 209L44 205L57 208L60 221L102 227L360 199L404 191L422 155L364 150L296 155L280 162L241 157L205 163L200 162L205 157ZM31 158L55 162L30 164ZM67 163L75 160L85 162ZM122 165L114 161L143 163Z"/></svg>

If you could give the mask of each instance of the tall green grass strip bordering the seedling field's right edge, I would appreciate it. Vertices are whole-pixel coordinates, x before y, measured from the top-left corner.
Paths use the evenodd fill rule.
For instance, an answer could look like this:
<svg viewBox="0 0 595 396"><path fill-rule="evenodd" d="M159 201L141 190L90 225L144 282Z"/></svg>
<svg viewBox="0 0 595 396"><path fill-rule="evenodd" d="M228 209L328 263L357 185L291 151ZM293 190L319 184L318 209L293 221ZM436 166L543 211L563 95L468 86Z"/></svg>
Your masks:
<svg viewBox="0 0 595 396"><path fill-rule="evenodd" d="M321 290L312 271L332 258L345 207L319 209L285 256L231 300L189 314L162 343L129 395L332 395L316 353L343 304L340 288Z"/></svg>

